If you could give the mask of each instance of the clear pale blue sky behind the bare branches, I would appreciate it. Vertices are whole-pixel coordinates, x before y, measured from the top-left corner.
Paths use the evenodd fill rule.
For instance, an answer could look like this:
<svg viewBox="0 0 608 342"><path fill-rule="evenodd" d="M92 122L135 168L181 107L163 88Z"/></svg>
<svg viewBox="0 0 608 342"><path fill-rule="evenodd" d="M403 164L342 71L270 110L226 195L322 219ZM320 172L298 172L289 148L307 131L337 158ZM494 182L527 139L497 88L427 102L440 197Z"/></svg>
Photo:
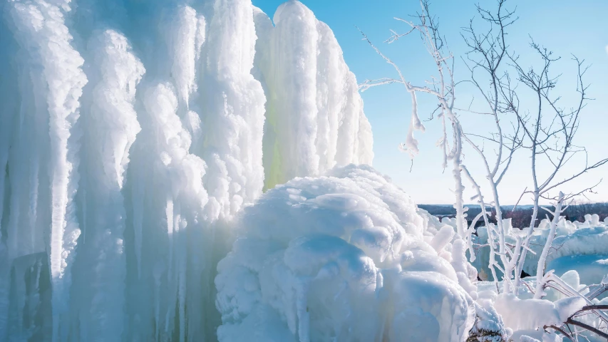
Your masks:
<svg viewBox="0 0 608 342"><path fill-rule="evenodd" d="M274 11L282 0L252 0L254 6L269 14L272 19ZM324 21L334 34L344 52L344 60L361 83L366 79L396 77L394 69L385 63L371 47L361 41L359 27L389 58L393 59L414 85L423 85L435 75L431 56L422 45L418 36L401 38L390 45L383 43L390 36L390 29L399 33L406 31L404 24L393 17L407 17L416 14L419 3L416 0L302 0L311 9L317 19ZM471 18L478 19L475 10L477 1L469 0L436 0L431 4L431 11L440 23L440 30L447 38L450 51L456 58L456 81L470 77L460 57L464 56L466 47L460 36L461 28L468 25ZM495 8L495 1L481 0L479 4L488 9ZM555 63L553 71L560 76L557 88L564 107L570 108L576 103L576 64L572 53L590 65L585 76L589 83L589 102L582 113L582 120L575 143L587 148L589 162L608 157L608 106L603 99L608 94L608 1L605 0L510 0L505 4L507 9L517 9L519 19L510 27L508 43L520 56L523 66L537 66L539 59L530 49L530 37L542 44L555 56L562 56ZM480 95L471 89L463 88L457 94L456 107L468 108L473 100L473 108ZM534 108L530 93L522 90L522 108ZM405 141L411 118L411 100L401 85L388 85L366 90L361 94L365 113L373 130L375 157L373 166L388 175L418 203L452 204L453 177L451 170L443 170L441 152L436 147L440 138L438 120L424 122L426 133L416 133L420 153L413 159L398 146ZM420 116L429 118L436 99L430 95L418 95ZM486 118L471 113L460 113L460 121L467 132L490 132L493 123ZM485 197L491 197L489 187L485 184L483 167L475 152L465 147L464 163L478 181ZM570 161L556 179L570 177L584 165L584 155ZM530 152L520 150L516 153L510 170L501 182L498 191L501 204L515 204L526 187L532 185ZM540 167L539 172L547 172L548 167ZM608 175L608 165L593 170L560 188L565 193L575 192L594 185ZM608 202L608 177L595 187L596 194L587 195L588 199L579 197L579 201ZM474 195L470 185L465 182L465 202ZM556 194L552 194L556 195ZM524 196L520 203L531 201Z"/></svg>

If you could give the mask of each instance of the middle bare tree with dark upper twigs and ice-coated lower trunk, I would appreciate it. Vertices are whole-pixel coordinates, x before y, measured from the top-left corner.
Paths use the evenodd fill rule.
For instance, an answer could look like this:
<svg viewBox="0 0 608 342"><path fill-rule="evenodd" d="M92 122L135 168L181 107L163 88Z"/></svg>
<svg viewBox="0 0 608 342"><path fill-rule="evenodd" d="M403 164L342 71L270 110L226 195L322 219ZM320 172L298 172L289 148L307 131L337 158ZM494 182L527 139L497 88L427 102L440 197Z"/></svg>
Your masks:
<svg viewBox="0 0 608 342"><path fill-rule="evenodd" d="M481 19L488 24L488 29L483 33L478 33L475 29L473 19L470 20L468 27L463 28L463 40L469 48L465 58L463 58L465 66L470 71L468 82L477 90L482 98L481 102L487 108L485 112L467 111L475 115L490 115L495 123L495 131L490 135L463 132L463 139L480 156L485 170L485 178L488 180L488 186L493 197L491 203L496 213L496 226L486 224L490 245L490 264L488 266L494 277L496 277L495 268L503 272L503 288L505 291L509 291L512 289L510 279L517 263L517 253L520 250L521 241L518 239L515 248L512 250L505 243L507 229L503 223L498 185L509 169L515 151L521 145L519 137L520 122L515 120L512 133L507 133L505 127L503 127L505 122L507 124L511 123L509 119L512 112L509 107L505 106L503 100L503 88L510 83L509 73L507 72L506 28L517 20L515 11L505 9L504 4L505 0L498 0L495 13L483 9L479 5L477 6ZM488 86L483 86L485 84L488 84ZM481 143L477 142L478 140L481 140ZM485 152L482 145L485 142L495 145L495 148L491 150L493 154ZM473 183L473 187L479 188L473 177L468 177L468 179ZM482 196L481 192L478 191L476 198L479 199L482 206L485 206ZM498 245L495 246L495 242L498 242ZM495 261L495 249L498 249L502 266ZM495 278L494 281L497 281L497 279Z"/></svg>

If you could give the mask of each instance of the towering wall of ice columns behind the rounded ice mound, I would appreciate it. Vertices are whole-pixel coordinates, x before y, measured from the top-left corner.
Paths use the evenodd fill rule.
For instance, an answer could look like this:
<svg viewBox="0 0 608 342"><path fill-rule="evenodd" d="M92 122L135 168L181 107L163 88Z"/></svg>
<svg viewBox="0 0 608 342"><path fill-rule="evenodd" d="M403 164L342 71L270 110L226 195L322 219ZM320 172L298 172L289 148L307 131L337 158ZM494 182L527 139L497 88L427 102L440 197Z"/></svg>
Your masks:
<svg viewBox="0 0 608 342"><path fill-rule="evenodd" d="M213 341L216 264L264 182L371 163L354 76L297 1L276 27L250 0L0 13L1 341Z"/></svg>

